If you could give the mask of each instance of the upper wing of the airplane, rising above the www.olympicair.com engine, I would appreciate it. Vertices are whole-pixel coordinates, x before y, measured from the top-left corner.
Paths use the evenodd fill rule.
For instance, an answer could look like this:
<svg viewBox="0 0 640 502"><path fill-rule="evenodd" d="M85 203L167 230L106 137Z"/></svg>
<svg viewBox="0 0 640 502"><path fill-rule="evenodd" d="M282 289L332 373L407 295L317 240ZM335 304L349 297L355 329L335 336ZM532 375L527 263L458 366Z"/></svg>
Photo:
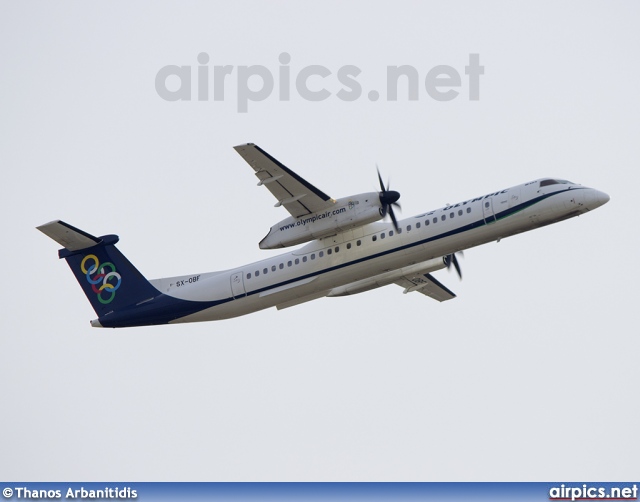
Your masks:
<svg viewBox="0 0 640 502"><path fill-rule="evenodd" d="M317 213L335 204L335 200L326 193L302 179L259 146L247 143L234 149L253 167L260 180L258 186L266 186L278 199L275 207L284 206L291 216L297 218Z"/></svg>

